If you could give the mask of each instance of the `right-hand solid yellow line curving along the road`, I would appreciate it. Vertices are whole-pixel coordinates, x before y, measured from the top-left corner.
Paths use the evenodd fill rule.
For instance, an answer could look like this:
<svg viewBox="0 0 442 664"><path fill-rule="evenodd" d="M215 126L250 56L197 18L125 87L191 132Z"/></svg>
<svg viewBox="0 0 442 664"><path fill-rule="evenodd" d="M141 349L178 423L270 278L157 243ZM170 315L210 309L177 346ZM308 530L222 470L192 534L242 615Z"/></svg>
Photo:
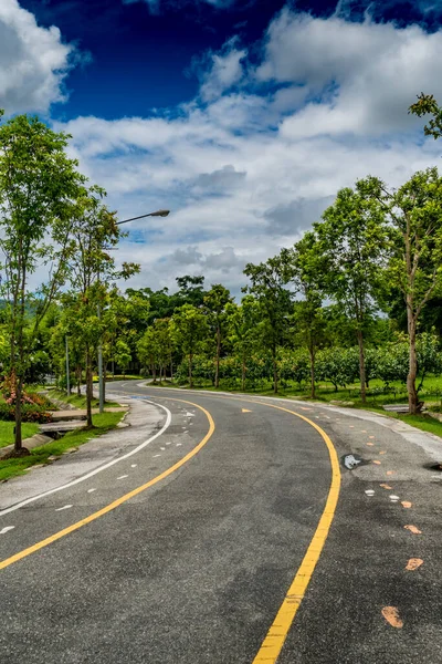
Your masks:
<svg viewBox="0 0 442 664"><path fill-rule="evenodd" d="M251 402L251 400L248 401ZM308 419L308 417L305 417L304 415L299 415L299 413L295 413L294 411L290 411L288 408L283 408L282 406L275 406L273 404L256 401L253 401L251 403L260 403L262 405L270 406L271 408L285 411L286 413L292 413L292 415L296 415L296 417L301 417L301 419L307 422L323 437L323 440L327 446L332 463L332 484L328 491L327 502L325 504L323 515L319 519L319 523L317 525L315 535L313 536L307 552L304 556L303 562L301 563L301 567L297 570L296 577L292 581L292 584L287 590L284 601L280 606L276 618L273 621L273 624L270 627L267 635L265 636L255 658L253 660L253 664L261 664L262 662L266 662L267 664L270 664L272 662L275 663L277 657L280 656L284 642L287 637L288 630L291 629L296 612L301 605L301 602L304 599L307 585L311 581L313 572L315 571L315 567L319 560L319 556L327 539L339 497L340 469L338 455L336 454L334 444L332 443L330 438L327 436L325 430L322 429L320 426L318 426L315 422L312 422L312 419Z"/></svg>

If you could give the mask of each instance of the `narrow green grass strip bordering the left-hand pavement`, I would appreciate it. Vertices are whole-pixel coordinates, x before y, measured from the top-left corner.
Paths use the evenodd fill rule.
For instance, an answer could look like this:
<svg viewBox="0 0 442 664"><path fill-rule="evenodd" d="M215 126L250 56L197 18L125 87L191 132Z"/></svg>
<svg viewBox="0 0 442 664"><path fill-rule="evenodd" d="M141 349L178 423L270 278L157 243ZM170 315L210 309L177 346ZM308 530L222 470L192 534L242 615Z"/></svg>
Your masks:
<svg viewBox="0 0 442 664"><path fill-rule="evenodd" d="M97 436L102 436L106 432L115 428L124 415L125 413L123 412L94 415L94 425L96 427L94 429L76 429L74 432L70 432L63 436L63 438L60 438L60 440L54 440L53 443L42 445L41 447L34 447L31 449L31 454L27 457L0 460L0 481L17 475L23 475L31 466L48 463L50 464L51 461L49 460L49 457L61 456L67 449L78 447L78 445L83 445L84 443L87 443Z"/></svg>

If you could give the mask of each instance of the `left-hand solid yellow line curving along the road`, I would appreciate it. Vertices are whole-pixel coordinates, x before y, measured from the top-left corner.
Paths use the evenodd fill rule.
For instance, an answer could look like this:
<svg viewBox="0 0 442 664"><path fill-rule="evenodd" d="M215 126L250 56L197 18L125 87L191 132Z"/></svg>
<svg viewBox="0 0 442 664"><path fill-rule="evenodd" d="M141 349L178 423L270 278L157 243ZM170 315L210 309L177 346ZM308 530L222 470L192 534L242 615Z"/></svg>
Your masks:
<svg viewBox="0 0 442 664"><path fill-rule="evenodd" d="M150 479L143 486L134 489L133 491L129 491L128 494L125 494L124 496L122 496L117 500L114 500L113 502L110 502L109 505L104 507L103 509L99 509L98 511L90 515L85 519L82 519L81 521L77 521L76 523L69 526L67 528L64 528L63 530L55 532L55 535L51 535L51 537L48 537L46 539L41 540L40 542L36 542L36 544L33 544L32 547L29 547L28 549L23 549L23 551L19 551L14 556L11 556L10 558L7 558L6 560L1 561L0 570L3 570L4 568L9 567L10 564L13 564L14 562L18 562L19 560L22 560L23 558L27 558L27 556L31 556L31 553L35 553L35 551L40 551L40 549L43 549L44 547L49 547L49 544L56 542L56 540L61 539L62 537L65 537L66 535L70 535L71 532L78 530L78 528L83 528L83 526L86 526L87 523L91 523L92 521L99 519L99 517L103 517L104 515L107 515L113 509L116 509L124 502L127 502L127 500L130 500L130 498L138 496L138 494L141 494L146 489L149 489L154 485L158 484L159 481L161 481L161 479L169 477L169 475L171 475L172 473L178 470L178 468L181 468L181 466L183 466L185 464L187 464L187 461L189 461L192 457L194 457L200 452L200 449L202 447L204 447L206 443L208 443L208 440L210 439L210 437L212 436L212 434L214 432L213 418L212 418L211 414L208 411L206 411L206 408L203 408L202 406L199 406L198 404L193 404L192 402L183 401L182 398L173 398L172 401L179 401L183 404L189 404L191 406L194 406L194 407L199 408L200 411L202 411L204 413L204 415L207 416L207 418L209 421L209 430L206 434L206 436L202 438L201 443L199 443L197 445L197 447L194 447L191 452L189 452L189 454L187 454L185 457L182 457L182 459L180 459L177 464L175 464L173 466L171 466L170 468L168 468L160 475L157 475L157 477L154 477L154 479Z"/></svg>

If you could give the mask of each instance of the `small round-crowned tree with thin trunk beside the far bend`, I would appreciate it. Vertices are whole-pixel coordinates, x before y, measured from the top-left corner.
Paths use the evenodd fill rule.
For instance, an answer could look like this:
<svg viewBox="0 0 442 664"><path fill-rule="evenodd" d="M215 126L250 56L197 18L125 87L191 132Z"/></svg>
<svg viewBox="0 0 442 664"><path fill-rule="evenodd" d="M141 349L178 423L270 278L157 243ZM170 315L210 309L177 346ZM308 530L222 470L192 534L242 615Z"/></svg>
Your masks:
<svg viewBox="0 0 442 664"><path fill-rule="evenodd" d="M183 304L173 313L171 323L172 339L189 359L189 387L193 387L193 355L207 342L209 325L204 313L192 304Z"/></svg>

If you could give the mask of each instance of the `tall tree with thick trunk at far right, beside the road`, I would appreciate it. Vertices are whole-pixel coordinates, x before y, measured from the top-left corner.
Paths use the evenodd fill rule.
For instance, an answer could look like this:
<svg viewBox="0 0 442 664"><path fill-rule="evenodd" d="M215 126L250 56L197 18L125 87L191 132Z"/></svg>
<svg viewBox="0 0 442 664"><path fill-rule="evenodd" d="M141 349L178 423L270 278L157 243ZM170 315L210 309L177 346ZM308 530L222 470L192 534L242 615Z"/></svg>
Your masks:
<svg viewBox="0 0 442 664"><path fill-rule="evenodd" d="M436 168L415 173L398 190L379 178L359 183L359 189L383 207L389 220L389 282L400 289L407 308L409 411L419 409L417 332L425 304L442 294L442 178Z"/></svg>

